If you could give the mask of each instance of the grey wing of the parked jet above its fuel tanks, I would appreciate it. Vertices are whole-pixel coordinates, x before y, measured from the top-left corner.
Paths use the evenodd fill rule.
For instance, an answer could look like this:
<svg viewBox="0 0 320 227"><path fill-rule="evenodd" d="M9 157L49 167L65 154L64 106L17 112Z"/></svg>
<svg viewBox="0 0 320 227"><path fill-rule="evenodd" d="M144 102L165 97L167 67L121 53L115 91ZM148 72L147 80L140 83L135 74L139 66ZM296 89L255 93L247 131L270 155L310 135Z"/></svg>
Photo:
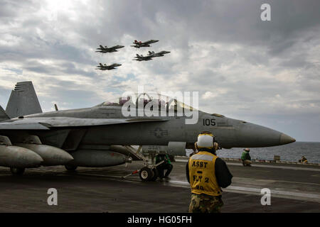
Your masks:
<svg viewBox="0 0 320 227"><path fill-rule="evenodd" d="M168 121L147 118L23 118L0 122L0 130L49 130L50 128L107 126L119 123Z"/></svg>

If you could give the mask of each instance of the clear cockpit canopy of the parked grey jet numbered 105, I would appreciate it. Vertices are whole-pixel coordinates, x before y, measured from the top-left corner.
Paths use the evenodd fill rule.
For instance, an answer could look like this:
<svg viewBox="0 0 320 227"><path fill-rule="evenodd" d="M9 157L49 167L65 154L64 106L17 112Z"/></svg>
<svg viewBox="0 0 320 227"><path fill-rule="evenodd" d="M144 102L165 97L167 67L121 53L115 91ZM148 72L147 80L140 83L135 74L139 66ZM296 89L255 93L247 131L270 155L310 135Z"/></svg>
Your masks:
<svg viewBox="0 0 320 227"><path fill-rule="evenodd" d="M183 96L181 96L181 99L183 99ZM111 101L105 101L97 106L123 106L128 101L136 108L144 108L147 104L149 104L158 105L159 110L161 109L166 111L169 111L170 109L174 109L174 111L176 111L177 109L188 109L189 111L196 110L192 106L184 104L182 101L178 101L178 99L174 99L169 96L157 93L142 93L124 97L122 96Z"/></svg>

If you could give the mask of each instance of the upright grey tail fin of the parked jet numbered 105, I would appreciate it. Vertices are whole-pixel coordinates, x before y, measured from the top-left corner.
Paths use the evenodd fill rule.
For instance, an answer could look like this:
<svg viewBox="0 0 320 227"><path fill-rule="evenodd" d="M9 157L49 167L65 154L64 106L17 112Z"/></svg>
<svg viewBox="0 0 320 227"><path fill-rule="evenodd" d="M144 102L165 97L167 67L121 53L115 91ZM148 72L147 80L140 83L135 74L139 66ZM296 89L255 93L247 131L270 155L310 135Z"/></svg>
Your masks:
<svg viewBox="0 0 320 227"><path fill-rule="evenodd" d="M41 106L31 81L18 82L11 92L6 114L10 118L42 113Z"/></svg>

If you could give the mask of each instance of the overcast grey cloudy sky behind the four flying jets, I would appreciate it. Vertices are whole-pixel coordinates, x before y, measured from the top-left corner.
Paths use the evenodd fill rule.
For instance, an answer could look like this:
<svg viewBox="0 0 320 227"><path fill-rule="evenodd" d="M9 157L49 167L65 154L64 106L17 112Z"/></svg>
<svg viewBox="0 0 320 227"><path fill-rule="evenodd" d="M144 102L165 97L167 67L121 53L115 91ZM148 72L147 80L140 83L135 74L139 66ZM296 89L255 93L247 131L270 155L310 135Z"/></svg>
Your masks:
<svg viewBox="0 0 320 227"><path fill-rule="evenodd" d="M261 21L260 6L271 6ZM0 0L0 104L32 80L43 111L145 85L198 91L199 108L320 142L320 2ZM133 40L157 39L135 50ZM125 45L111 54L98 45ZM137 53L169 50L136 62ZM99 63L121 63L97 72Z"/></svg>

